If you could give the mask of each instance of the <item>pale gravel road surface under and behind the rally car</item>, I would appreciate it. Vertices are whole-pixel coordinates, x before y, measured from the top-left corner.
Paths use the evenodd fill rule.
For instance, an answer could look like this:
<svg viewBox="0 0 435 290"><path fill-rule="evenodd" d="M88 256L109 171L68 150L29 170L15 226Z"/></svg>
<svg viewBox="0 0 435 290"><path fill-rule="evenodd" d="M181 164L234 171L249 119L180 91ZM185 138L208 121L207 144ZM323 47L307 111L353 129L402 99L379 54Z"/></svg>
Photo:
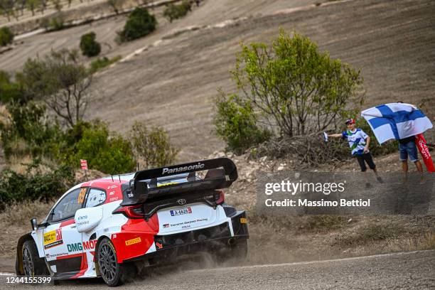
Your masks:
<svg viewBox="0 0 435 290"><path fill-rule="evenodd" d="M435 289L435 251L168 272L121 289ZM63 281L55 289L91 287L107 289L98 279Z"/></svg>

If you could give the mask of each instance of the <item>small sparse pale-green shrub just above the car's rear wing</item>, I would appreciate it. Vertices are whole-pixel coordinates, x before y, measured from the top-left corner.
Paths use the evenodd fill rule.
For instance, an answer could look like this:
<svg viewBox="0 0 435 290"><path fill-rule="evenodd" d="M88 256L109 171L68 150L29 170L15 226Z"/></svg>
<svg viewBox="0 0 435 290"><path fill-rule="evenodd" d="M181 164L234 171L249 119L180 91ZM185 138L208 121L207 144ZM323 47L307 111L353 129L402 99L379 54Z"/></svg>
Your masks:
<svg viewBox="0 0 435 290"><path fill-rule="evenodd" d="M168 133L160 127L148 129L144 123L136 121L129 136L135 153L144 161L146 168L169 165L179 152L171 145Z"/></svg>

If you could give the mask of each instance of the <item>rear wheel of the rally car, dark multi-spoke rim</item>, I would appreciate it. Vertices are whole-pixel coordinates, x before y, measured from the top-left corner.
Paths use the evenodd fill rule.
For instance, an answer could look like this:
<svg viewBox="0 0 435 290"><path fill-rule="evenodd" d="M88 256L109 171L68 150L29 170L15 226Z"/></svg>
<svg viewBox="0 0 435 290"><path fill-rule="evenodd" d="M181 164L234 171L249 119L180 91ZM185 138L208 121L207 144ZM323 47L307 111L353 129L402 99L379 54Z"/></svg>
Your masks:
<svg viewBox="0 0 435 290"><path fill-rule="evenodd" d="M96 257L102 279L108 286L120 286L133 278L134 265L117 262L116 249L108 238L98 244Z"/></svg>

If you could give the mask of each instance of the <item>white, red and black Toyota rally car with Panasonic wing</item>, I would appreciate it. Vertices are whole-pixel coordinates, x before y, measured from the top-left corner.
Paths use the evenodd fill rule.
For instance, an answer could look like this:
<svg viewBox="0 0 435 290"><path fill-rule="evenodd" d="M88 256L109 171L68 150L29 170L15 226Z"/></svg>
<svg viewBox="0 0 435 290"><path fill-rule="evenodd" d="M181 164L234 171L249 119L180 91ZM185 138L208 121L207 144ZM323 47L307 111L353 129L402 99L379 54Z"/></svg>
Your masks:
<svg viewBox="0 0 435 290"><path fill-rule="evenodd" d="M245 211L224 202L237 179L230 159L154 168L80 183L18 240L16 274L101 276L122 284L146 266L211 252L245 259Z"/></svg>

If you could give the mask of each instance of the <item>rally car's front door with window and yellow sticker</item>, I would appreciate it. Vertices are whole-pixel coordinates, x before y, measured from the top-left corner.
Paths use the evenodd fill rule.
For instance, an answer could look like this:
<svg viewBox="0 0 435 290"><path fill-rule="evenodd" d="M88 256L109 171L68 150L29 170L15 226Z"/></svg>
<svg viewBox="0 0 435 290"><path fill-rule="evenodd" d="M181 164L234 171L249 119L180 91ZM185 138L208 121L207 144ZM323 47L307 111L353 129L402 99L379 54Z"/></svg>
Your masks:
<svg viewBox="0 0 435 290"><path fill-rule="evenodd" d="M80 272L82 234L77 232L75 212L82 208L87 188L77 188L63 196L50 211L48 226L43 231L45 259L56 276Z"/></svg>

